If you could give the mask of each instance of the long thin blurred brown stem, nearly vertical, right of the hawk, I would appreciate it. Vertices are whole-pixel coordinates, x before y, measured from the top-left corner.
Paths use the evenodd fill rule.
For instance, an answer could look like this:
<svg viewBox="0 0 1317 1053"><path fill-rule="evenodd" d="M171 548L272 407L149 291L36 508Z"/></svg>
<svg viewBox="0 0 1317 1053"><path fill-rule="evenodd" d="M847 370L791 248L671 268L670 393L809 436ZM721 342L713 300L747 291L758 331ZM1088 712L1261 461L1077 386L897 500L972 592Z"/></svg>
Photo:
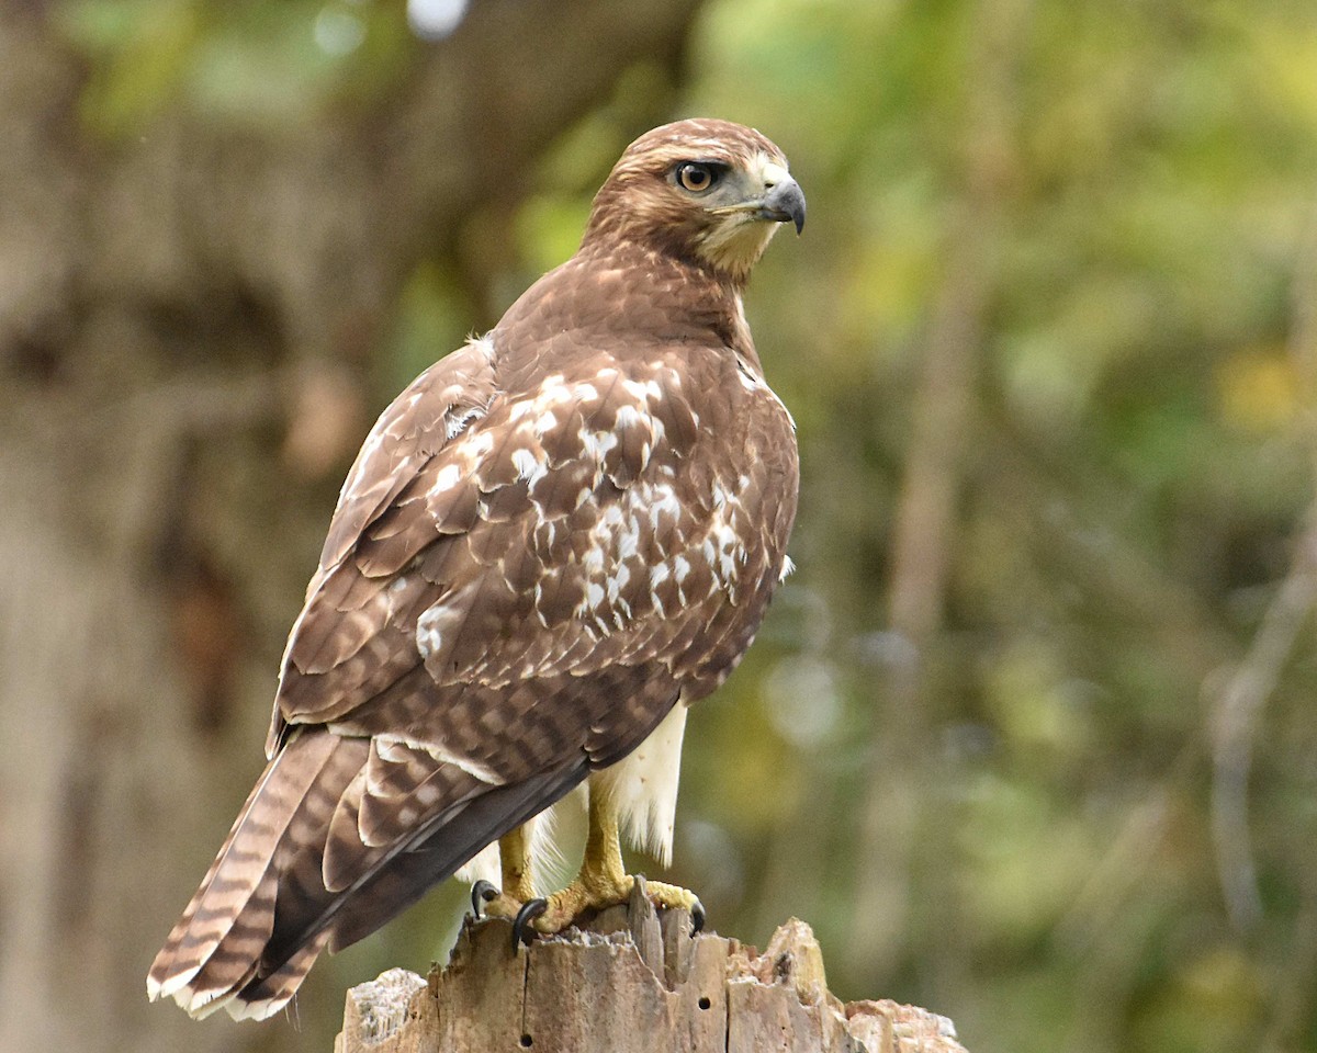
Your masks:
<svg viewBox="0 0 1317 1053"><path fill-rule="evenodd" d="M1014 75L1029 0L981 0L965 68L963 178L947 246L946 279L934 305L914 395L913 434L892 545L890 629L909 661L893 663L874 731L857 845L852 965L900 953L917 840L917 807L902 787L918 767L926 720L928 652L942 629L956 538L956 504L1002 203L1011 168Z"/></svg>

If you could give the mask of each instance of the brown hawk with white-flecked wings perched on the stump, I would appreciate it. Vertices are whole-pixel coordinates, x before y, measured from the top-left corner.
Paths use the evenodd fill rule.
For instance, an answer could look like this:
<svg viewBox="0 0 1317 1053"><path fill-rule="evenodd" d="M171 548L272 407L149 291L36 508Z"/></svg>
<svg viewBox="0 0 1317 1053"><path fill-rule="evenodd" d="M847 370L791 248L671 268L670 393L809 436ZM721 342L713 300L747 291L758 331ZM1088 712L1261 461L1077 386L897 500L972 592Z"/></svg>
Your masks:
<svg viewBox="0 0 1317 1053"><path fill-rule="evenodd" d="M527 936L630 895L619 828L666 857L686 709L790 569L794 424L741 308L782 222L805 196L764 136L657 128L576 255L385 409L288 636L269 763L151 999L269 1016L495 841L502 890L474 900ZM581 871L537 898L533 817L582 782Z"/></svg>

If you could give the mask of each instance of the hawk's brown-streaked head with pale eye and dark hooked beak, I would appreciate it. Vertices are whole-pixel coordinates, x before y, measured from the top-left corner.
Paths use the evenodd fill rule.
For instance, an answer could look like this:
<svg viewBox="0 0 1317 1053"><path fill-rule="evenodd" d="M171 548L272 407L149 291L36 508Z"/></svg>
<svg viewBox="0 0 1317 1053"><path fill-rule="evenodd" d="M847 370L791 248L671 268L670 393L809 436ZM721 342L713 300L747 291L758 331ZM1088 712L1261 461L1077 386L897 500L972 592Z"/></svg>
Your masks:
<svg viewBox="0 0 1317 1053"><path fill-rule="evenodd" d="M677 121L623 153L595 195L583 246L633 241L740 284L786 221L805 226L805 195L781 150L730 121Z"/></svg>

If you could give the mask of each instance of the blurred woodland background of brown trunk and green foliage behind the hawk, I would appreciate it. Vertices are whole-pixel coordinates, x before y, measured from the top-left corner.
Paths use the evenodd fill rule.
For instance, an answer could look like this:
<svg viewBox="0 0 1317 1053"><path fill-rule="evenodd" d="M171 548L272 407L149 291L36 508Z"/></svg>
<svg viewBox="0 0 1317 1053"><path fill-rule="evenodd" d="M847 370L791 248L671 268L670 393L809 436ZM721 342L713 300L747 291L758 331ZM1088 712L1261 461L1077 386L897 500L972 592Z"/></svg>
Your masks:
<svg viewBox="0 0 1317 1053"><path fill-rule="evenodd" d="M809 195L803 492L665 877L972 1053L1317 1049L1312 3L7 0L7 1050L329 1053L446 957L456 883L267 1024L144 994L370 421L691 115Z"/></svg>

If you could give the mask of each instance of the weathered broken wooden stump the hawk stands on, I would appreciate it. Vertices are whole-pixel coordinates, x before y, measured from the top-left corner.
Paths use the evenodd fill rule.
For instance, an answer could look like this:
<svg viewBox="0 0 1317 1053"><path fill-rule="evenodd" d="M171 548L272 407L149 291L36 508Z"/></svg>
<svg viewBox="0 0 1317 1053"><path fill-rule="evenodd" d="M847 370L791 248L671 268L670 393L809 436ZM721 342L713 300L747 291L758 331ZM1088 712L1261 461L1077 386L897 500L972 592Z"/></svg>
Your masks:
<svg viewBox="0 0 1317 1053"><path fill-rule="evenodd" d="M913 1006L843 1004L803 921L761 953L637 892L515 954L507 921L469 919L428 981L353 987L335 1053L965 1053L955 1035Z"/></svg>

